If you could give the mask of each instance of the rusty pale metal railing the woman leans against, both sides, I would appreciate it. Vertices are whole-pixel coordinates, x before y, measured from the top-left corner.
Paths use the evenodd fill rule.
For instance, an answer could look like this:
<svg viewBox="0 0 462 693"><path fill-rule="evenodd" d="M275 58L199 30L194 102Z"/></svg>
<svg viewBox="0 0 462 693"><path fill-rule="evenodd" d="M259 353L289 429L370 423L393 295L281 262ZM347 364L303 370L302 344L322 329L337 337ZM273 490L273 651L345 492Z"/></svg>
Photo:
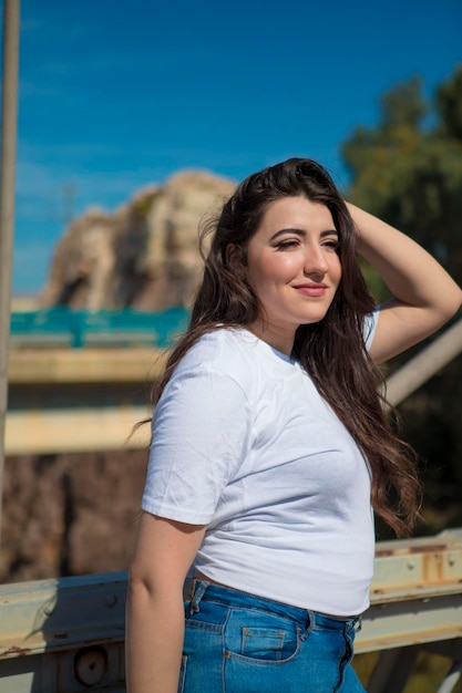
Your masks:
<svg viewBox="0 0 462 693"><path fill-rule="evenodd" d="M124 691L126 573L0 588L0 693ZM369 693L400 693L420 649L462 663L462 529L379 542L358 653L381 651ZM448 687L450 686L450 687Z"/></svg>

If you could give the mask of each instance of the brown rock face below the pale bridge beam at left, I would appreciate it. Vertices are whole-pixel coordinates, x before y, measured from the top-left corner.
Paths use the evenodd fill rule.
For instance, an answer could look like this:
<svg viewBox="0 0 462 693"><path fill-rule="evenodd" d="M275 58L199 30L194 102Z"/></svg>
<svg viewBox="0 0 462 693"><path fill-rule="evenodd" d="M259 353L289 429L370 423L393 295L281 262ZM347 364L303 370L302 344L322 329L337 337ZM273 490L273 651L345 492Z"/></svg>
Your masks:
<svg viewBox="0 0 462 693"><path fill-rule="evenodd" d="M0 581L125 570L145 451L8 457Z"/></svg>

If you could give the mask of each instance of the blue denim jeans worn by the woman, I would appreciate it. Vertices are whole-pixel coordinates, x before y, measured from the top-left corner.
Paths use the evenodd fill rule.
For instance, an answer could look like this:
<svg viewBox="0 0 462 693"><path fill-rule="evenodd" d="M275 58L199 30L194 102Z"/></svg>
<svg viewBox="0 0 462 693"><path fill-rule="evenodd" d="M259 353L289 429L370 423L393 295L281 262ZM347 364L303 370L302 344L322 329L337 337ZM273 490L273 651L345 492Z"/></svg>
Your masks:
<svg viewBox="0 0 462 693"><path fill-rule="evenodd" d="M365 693L359 618L335 619L194 580L178 693Z"/></svg>

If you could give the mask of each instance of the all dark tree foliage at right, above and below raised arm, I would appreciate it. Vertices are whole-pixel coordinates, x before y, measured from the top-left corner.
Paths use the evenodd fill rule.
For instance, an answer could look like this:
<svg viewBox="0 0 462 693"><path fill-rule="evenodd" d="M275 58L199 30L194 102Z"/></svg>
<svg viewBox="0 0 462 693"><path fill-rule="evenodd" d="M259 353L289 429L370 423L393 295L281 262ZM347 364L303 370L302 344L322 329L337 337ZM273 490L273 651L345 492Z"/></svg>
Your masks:
<svg viewBox="0 0 462 693"><path fill-rule="evenodd" d="M386 93L378 125L357 127L342 155L346 196L414 238L462 283L462 64L431 101L417 76ZM377 277L371 282L383 298ZM460 513L452 521L462 525L461 382L459 356L400 410L404 437L428 462L429 496L445 507L452 497Z"/></svg>

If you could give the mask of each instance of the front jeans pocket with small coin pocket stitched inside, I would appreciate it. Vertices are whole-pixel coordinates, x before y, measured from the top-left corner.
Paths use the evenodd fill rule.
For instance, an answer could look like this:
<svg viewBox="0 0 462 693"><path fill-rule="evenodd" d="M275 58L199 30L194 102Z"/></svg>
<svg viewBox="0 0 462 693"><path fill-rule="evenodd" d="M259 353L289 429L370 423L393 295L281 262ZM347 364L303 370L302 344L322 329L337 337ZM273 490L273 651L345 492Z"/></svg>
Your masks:
<svg viewBox="0 0 462 693"><path fill-rule="evenodd" d="M297 624L251 609L233 609L225 629L227 656L278 663L296 655L300 633Z"/></svg>

